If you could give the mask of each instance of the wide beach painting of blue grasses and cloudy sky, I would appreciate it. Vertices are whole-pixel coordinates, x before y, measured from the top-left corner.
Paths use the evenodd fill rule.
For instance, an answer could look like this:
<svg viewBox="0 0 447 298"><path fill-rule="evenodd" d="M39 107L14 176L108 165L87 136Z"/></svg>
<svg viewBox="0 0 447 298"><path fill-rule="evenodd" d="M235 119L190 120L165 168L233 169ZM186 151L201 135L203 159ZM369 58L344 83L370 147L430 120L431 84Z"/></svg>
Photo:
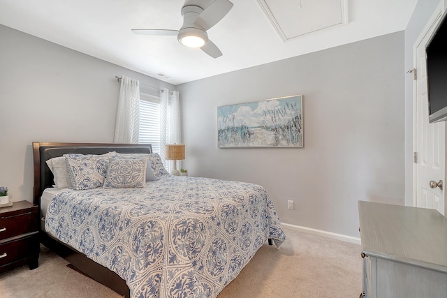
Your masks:
<svg viewBox="0 0 447 298"><path fill-rule="evenodd" d="M303 147L302 95L217 107L219 148Z"/></svg>

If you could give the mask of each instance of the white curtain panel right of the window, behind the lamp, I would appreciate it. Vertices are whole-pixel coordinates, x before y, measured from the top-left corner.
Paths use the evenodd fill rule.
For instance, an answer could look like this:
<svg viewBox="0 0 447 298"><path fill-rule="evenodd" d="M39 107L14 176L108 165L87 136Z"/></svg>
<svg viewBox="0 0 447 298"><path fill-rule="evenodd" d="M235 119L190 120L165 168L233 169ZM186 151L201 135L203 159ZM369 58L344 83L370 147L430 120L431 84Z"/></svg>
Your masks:
<svg viewBox="0 0 447 298"><path fill-rule="evenodd" d="M166 160L166 144L181 144L180 102L178 91L160 91L160 156ZM166 170L173 170L173 161L166 161ZM177 162L177 169L182 161Z"/></svg>

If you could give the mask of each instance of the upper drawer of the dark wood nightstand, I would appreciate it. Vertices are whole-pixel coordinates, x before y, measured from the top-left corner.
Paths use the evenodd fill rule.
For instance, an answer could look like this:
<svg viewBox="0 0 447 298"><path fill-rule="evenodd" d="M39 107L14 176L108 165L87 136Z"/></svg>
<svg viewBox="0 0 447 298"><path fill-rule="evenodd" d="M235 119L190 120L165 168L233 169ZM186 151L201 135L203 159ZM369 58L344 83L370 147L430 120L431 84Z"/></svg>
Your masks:
<svg viewBox="0 0 447 298"><path fill-rule="evenodd" d="M31 225L31 212L15 216L0 217L0 240L20 234L34 232Z"/></svg>

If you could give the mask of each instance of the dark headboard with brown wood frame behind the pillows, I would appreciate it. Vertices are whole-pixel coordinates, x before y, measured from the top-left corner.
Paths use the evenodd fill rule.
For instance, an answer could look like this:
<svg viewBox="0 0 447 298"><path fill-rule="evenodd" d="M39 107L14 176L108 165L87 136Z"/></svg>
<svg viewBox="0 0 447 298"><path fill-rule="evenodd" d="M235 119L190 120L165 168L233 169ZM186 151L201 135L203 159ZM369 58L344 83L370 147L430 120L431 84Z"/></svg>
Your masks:
<svg viewBox="0 0 447 298"><path fill-rule="evenodd" d="M33 142L34 158L34 204L41 206L41 195L45 188L52 187L53 174L45 161L68 153L106 154L110 151L119 153L152 153L151 144L105 144L105 143L61 143Z"/></svg>

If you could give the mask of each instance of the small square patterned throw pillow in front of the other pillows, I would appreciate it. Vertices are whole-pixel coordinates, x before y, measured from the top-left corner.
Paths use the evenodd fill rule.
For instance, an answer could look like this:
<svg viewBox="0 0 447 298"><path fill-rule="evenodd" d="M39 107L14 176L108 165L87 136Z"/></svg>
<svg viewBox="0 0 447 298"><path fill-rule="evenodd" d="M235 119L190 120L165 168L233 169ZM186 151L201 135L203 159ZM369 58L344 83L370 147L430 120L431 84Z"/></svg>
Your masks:
<svg viewBox="0 0 447 298"><path fill-rule="evenodd" d="M146 186L146 158L109 158L104 188Z"/></svg>

